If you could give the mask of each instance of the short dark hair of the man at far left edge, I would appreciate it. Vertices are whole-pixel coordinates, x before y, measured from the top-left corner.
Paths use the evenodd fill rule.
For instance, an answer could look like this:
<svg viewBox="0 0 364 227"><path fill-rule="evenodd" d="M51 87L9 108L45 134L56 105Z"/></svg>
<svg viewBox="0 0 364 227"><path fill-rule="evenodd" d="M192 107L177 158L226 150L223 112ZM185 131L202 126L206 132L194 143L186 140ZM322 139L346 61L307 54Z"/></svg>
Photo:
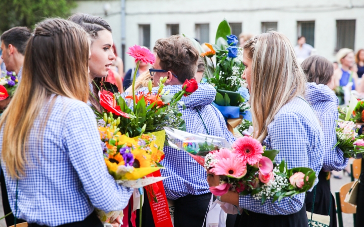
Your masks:
<svg viewBox="0 0 364 227"><path fill-rule="evenodd" d="M9 44L12 44L19 53L24 55L25 46L30 35L30 31L27 27L14 27L4 32L0 40L4 42L6 48L8 48Z"/></svg>

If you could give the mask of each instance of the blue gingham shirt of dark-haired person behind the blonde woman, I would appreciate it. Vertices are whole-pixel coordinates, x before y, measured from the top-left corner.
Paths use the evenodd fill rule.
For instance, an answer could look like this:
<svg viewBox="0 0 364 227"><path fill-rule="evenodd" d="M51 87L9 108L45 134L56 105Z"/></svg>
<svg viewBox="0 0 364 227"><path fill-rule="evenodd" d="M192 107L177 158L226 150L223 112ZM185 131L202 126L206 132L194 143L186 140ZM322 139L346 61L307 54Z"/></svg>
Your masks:
<svg viewBox="0 0 364 227"><path fill-rule="evenodd" d="M348 164L349 158L344 157L344 153L335 146L336 140L336 120L339 118L339 100L328 86L316 83L306 84L306 100L311 104L316 112L317 118L321 122L325 136L324 171L342 171Z"/></svg>

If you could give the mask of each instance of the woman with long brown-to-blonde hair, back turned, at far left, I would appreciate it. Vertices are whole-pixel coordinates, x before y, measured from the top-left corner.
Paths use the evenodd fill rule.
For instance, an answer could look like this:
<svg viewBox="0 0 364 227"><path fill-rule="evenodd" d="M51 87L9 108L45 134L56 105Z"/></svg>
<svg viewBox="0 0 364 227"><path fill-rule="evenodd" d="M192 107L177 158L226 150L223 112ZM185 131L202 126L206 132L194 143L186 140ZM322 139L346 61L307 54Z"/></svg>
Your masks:
<svg viewBox="0 0 364 227"><path fill-rule="evenodd" d="M1 118L9 202L30 227L102 227L95 207L121 210L132 193L109 175L85 103L89 57L80 26L63 19L39 23L26 46L22 82Z"/></svg>

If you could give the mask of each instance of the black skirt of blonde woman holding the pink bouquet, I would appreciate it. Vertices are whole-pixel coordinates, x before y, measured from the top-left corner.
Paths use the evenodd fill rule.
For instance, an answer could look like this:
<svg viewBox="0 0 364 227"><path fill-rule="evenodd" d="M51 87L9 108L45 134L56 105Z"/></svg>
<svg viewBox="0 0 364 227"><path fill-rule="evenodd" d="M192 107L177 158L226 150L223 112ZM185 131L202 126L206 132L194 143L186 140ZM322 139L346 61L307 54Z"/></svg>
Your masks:
<svg viewBox="0 0 364 227"><path fill-rule="evenodd" d="M248 214L243 211L242 215L237 218L235 226L308 227L305 204L300 211L289 215L268 215L252 211L248 211Z"/></svg>

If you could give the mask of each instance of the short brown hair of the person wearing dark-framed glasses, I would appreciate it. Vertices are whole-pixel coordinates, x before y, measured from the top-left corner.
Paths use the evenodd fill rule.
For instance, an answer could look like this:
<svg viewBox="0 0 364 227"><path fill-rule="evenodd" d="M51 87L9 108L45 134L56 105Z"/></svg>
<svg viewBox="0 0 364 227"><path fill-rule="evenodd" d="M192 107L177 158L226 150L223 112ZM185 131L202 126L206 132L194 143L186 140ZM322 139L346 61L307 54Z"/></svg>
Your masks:
<svg viewBox="0 0 364 227"><path fill-rule="evenodd" d="M174 73L181 83L195 77L200 55L188 38L172 35L158 39L153 50L160 59L161 68Z"/></svg>

